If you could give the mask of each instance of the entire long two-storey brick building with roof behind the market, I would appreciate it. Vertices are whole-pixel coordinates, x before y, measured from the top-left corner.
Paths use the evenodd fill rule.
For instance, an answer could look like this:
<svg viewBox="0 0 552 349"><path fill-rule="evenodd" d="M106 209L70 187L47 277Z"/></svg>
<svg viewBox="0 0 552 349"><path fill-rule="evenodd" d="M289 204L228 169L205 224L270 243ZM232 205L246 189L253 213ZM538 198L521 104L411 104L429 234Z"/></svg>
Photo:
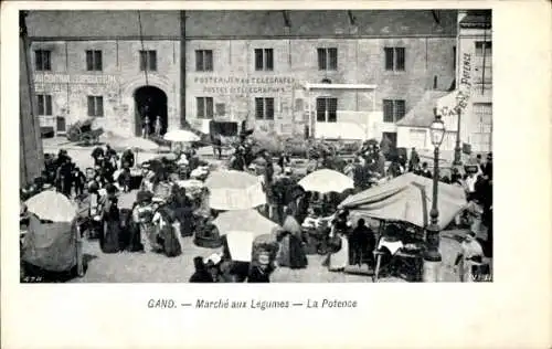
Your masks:
<svg viewBox="0 0 552 349"><path fill-rule="evenodd" d="M51 12L67 29L62 17L91 23ZM141 23L137 11L98 12L87 18L107 24L94 33L33 32L33 54L50 52L46 68L35 59L43 125L91 116L135 135L147 86L167 97L167 129L245 119L279 135L355 138L357 126L396 140L396 121L424 92L455 77L456 11L141 11Z"/></svg>

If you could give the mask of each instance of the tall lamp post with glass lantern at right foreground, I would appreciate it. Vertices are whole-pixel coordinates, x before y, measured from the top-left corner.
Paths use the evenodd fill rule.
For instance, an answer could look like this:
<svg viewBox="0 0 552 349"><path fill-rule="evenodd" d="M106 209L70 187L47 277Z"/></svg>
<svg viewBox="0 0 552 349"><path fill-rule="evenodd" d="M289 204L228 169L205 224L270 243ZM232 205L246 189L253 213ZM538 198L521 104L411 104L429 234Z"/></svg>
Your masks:
<svg viewBox="0 0 552 349"><path fill-rule="evenodd" d="M439 183L439 146L445 137L445 124L434 109L435 120L429 127L432 144L435 148L433 155L433 198L432 210L429 211L429 225L426 228L426 251L424 253L423 281L434 283L439 279L440 261L439 253L439 232L438 225L439 211L437 208L438 183Z"/></svg>

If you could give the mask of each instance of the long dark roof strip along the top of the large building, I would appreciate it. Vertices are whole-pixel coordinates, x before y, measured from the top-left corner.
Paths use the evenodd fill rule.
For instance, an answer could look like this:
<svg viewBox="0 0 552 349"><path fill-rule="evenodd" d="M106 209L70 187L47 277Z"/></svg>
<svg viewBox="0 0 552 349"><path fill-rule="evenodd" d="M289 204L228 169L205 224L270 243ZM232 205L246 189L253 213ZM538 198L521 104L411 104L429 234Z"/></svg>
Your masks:
<svg viewBox="0 0 552 349"><path fill-rule="evenodd" d="M180 38L181 11L30 11L30 38ZM289 28L286 28L286 12ZM185 11L188 39L454 36L456 10ZM351 14L351 15L350 15ZM437 20L439 23L437 23ZM98 25L98 23L102 23Z"/></svg>

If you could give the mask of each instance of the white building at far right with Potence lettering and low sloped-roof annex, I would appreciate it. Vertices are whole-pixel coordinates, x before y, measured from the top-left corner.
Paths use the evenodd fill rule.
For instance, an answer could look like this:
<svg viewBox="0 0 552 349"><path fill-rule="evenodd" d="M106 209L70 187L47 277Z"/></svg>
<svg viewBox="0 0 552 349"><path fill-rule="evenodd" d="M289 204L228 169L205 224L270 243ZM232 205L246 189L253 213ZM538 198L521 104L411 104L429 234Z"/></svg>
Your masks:
<svg viewBox="0 0 552 349"><path fill-rule="evenodd" d="M455 91L427 91L397 123L399 147L432 149L429 125L434 108L445 123L442 150L464 145L475 152L491 151L492 146L492 38L491 11L458 11ZM457 112L460 112L459 115ZM459 131L458 131L459 127Z"/></svg>

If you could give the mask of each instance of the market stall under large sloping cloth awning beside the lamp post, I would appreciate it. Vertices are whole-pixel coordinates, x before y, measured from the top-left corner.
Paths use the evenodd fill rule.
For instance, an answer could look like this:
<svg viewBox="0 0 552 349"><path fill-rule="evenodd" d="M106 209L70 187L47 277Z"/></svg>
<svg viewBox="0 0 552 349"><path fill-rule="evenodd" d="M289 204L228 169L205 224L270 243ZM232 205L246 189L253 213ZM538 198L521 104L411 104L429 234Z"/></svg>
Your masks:
<svg viewBox="0 0 552 349"><path fill-rule="evenodd" d="M378 281L382 265L394 265L393 268L400 273L404 268L410 269L411 279L420 278L432 187L431 179L406 173L351 195L339 204L351 215L380 221L374 281ZM444 229L466 208L467 202L461 188L446 183L439 183L438 198L438 225Z"/></svg>

